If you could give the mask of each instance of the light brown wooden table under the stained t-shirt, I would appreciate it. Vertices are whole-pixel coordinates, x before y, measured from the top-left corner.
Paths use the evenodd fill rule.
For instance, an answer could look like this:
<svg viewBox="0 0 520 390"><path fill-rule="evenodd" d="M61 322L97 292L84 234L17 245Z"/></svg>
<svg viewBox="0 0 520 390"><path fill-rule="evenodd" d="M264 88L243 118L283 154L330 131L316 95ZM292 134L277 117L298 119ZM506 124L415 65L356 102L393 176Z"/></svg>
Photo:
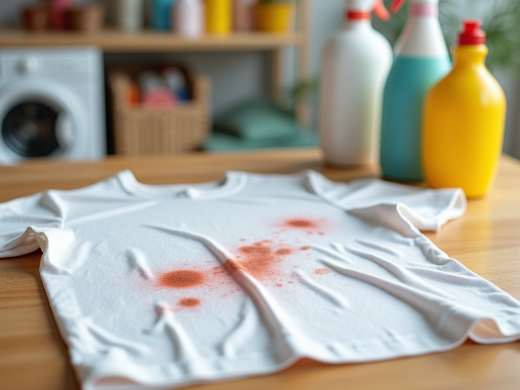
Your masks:
<svg viewBox="0 0 520 390"><path fill-rule="evenodd" d="M225 170L294 173L315 168L334 180L375 176L370 166L323 167L317 150L109 158L96 163L0 167L0 202L48 188L71 189L130 168L148 184L213 180ZM1 228L1 227L0 227ZM438 233L440 249L520 300L520 162L502 157L495 188L470 200L467 213ZM41 252L0 260L0 389L79 388L50 313L38 271ZM520 343L466 342L449 352L375 363L325 365L302 360L278 374L193 386L238 389L520 389Z"/></svg>

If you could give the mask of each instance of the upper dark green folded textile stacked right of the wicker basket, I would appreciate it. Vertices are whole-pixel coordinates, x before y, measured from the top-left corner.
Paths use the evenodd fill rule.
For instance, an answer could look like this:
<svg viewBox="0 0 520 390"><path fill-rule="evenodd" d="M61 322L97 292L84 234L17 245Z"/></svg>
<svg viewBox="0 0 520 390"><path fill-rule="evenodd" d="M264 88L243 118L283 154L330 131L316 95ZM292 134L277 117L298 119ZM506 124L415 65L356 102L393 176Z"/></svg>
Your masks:
<svg viewBox="0 0 520 390"><path fill-rule="evenodd" d="M214 129L248 140L294 137L303 130L289 113L265 99L231 109L215 121Z"/></svg>

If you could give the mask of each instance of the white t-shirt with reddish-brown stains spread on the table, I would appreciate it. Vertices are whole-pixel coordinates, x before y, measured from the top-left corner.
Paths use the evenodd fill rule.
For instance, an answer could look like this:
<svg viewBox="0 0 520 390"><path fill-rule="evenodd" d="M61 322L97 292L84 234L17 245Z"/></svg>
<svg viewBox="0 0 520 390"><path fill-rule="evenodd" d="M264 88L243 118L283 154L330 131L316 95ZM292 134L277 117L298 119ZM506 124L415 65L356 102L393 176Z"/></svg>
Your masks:
<svg viewBox="0 0 520 390"><path fill-rule="evenodd" d="M41 276L85 389L170 388L520 337L520 303L421 230L461 190L229 172L149 186L124 171L0 204L0 257Z"/></svg>

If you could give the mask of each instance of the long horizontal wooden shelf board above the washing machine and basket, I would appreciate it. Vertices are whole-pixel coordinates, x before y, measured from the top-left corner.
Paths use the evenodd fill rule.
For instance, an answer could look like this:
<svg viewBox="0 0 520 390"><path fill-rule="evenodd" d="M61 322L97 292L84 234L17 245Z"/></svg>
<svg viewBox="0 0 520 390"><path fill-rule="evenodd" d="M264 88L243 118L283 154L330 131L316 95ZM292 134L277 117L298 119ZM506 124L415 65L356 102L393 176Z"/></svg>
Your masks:
<svg viewBox="0 0 520 390"><path fill-rule="evenodd" d="M142 31L124 33L105 30L97 34L75 32L37 32L0 30L0 47L9 46L78 46L94 45L112 53L136 51L212 51L212 50L271 50L300 45L299 33L233 33L225 36L206 35L186 38L168 32Z"/></svg>

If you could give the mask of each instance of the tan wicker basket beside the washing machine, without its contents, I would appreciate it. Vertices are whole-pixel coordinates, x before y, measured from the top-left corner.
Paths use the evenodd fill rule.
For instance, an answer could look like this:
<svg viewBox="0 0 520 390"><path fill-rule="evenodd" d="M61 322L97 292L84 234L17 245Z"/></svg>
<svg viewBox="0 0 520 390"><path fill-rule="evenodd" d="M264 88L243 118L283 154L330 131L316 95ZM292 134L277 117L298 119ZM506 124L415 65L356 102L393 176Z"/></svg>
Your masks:
<svg viewBox="0 0 520 390"><path fill-rule="evenodd" d="M193 76L193 99L174 108L145 108L127 101L131 84L123 72L109 76L114 111L115 153L165 155L199 148L209 132L210 81Z"/></svg>

